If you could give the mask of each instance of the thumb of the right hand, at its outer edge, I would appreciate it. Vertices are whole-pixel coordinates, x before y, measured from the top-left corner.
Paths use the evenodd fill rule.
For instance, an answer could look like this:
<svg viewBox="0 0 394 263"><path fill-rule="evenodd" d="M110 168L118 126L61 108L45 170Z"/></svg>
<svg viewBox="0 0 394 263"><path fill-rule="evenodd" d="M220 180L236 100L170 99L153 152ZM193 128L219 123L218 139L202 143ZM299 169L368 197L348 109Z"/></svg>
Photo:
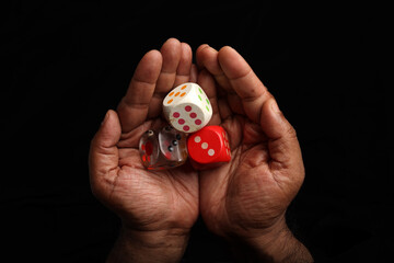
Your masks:
<svg viewBox="0 0 394 263"><path fill-rule="evenodd" d="M268 137L270 168L290 169L296 174L303 175L302 155L296 130L274 98L266 101L262 107L260 126Z"/></svg>

